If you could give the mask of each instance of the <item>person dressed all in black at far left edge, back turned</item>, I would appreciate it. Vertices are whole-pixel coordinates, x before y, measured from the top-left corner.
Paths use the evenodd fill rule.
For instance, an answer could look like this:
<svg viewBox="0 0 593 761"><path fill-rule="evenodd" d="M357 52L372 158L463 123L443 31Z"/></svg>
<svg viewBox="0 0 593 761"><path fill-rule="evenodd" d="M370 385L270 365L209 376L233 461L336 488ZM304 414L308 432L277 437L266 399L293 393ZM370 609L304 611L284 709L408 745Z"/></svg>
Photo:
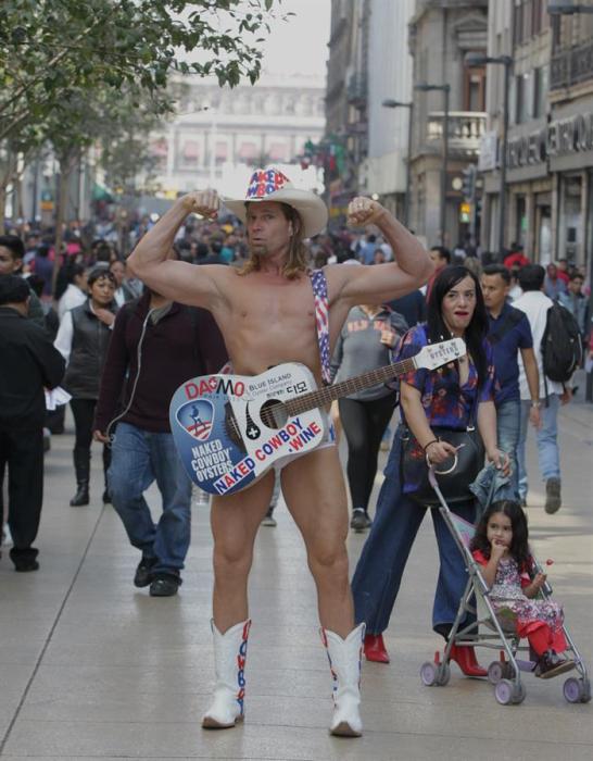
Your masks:
<svg viewBox="0 0 593 761"><path fill-rule="evenodd" d="M64 375L64 360L45 330L27 320L27 283L16 275L0 277L0 527L4 472L9 472L10 557L16 571L37 571L43 501L43 386L54 388Z"/></svg>

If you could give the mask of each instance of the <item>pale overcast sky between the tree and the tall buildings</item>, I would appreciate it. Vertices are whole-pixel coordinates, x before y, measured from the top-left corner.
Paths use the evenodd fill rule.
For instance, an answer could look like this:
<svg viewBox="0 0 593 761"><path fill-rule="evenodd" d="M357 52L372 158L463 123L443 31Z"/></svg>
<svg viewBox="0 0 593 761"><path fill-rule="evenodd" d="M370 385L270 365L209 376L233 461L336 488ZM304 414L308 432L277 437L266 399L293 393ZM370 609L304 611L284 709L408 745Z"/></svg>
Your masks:
<svg viewBox="0 0 593 761"><path fill-rule="evenodd" d="M289 21L277 21L264 46L263 67L269 74L326 75L328 59L330 0L282 0Z"/></svg>

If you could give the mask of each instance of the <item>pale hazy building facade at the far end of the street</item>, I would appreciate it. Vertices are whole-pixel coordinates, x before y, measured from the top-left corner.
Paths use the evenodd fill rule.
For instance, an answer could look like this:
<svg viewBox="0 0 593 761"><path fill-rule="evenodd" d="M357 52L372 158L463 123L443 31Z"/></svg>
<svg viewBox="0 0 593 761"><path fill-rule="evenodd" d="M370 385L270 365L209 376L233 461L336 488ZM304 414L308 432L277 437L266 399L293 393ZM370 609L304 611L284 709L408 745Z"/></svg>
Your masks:
<svg viewBox="0 0 593 761"><path fill-rule="evenodd" d="M305 144L321 138L324 100L323 76L264 74L256 85L234 89L186 76L177 90L177 115L153 138L156 182L171 197L202 187L244 191L250 169L299 163ZM315 188L314 170L310 176Z"/></svg>

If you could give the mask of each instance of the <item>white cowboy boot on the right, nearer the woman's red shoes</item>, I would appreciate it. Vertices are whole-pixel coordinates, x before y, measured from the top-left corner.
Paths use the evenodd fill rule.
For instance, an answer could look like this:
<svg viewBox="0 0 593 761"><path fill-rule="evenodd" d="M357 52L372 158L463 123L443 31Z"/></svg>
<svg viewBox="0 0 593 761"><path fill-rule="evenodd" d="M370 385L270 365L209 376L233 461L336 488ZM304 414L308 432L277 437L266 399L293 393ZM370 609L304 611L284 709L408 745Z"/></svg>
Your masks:
<svg viewBox="0 0 593 761"><path fill-rule="evenodd" d="M361 737L361 658L365 624L359 624L345 639L327 628L320 629L329 668L333 676L333 716L329 732L341 737Z"/></svg>

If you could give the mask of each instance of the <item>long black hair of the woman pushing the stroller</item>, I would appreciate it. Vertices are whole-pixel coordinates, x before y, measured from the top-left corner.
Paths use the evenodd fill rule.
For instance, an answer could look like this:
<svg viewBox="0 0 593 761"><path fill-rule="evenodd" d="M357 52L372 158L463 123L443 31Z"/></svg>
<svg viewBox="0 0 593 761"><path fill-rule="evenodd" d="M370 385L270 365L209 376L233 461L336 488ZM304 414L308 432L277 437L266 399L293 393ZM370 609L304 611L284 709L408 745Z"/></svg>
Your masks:
<svg viewBox="0 0 593 761"><path fill-rule="evenodd" d="M431 344L438 344L451 336L451 330L443 320L441 305L446 294L466 277L471 277L476 286L476 309L465 330L464 340L478 371L478 388L481 388L485 384L488 376L488 363L483 347L483 341L488 335L488 314L480 282L467 267L457 265L445 266L437 275L428 300L428 337Z"/></svg>

